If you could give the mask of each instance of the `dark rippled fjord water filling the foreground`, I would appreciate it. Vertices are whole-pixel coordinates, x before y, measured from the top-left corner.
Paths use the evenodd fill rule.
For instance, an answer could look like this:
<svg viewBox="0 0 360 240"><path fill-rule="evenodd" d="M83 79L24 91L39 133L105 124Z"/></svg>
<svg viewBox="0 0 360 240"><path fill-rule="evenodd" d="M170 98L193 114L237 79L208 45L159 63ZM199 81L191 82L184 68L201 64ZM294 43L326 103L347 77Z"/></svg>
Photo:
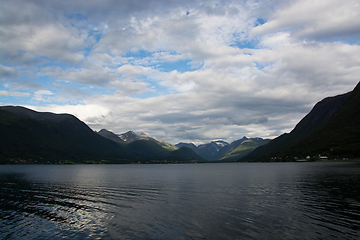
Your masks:
<svg viewBox="0 0 360 240"><path fill-rule="evenodd" d="M1 239L359 239L359 163L0 166Z"/></svg>

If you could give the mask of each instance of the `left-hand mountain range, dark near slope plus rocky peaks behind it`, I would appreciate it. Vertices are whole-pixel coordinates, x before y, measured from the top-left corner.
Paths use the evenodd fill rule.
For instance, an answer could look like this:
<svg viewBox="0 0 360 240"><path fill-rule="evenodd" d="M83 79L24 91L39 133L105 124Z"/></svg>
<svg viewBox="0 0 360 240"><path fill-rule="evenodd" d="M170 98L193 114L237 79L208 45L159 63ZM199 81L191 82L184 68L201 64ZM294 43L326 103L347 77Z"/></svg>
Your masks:
<svg viewBox="0 0 360 240"><path fill-rule="evenodd" d="M0 107L0 132L0 164L204 161L192 150L164 148L148 136L126 143L105 129L94 132L73 115L24 107Z"/></svg>

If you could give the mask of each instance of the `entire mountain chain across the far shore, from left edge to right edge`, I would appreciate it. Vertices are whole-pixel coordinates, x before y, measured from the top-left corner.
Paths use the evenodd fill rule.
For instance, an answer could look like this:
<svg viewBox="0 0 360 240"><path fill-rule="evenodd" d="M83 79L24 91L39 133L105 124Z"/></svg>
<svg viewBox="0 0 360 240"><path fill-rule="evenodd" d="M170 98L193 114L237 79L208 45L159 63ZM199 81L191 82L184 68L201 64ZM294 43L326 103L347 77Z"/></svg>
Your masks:
<svg viewBox="0 0 360 240"><path fill-rule="evenodd" d="M318 102L290 133L172 145L144 133L93 131L70 114L0 107L0 164L314 161L360 157L360 83Z"/></svg>

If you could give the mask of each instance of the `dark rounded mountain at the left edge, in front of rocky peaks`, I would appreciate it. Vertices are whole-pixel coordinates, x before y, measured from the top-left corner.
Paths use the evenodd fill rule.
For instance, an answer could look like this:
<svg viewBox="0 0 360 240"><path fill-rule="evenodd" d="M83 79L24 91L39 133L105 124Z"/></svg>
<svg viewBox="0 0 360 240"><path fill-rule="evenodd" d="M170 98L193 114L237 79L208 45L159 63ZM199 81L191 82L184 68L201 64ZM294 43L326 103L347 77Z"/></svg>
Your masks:
<svg viewBox="0 0 360 240"><path fill-rule="evenodd" d="M0 162L122 162L129 155L69 114L40 113L24 107L0 107Z"/></svg>

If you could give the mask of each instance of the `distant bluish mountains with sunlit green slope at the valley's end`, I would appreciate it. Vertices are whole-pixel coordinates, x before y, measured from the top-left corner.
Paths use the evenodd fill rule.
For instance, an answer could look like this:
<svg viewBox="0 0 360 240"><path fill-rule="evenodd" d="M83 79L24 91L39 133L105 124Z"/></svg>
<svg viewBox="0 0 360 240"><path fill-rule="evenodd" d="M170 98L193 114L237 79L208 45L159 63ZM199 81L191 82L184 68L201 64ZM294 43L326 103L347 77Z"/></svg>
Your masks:
<svg viewBox="0 0 360 240"><path fill-rule="evenodd" d="M243 137L230 144L222 140L217 140L199 146L195 146L193 143L178 143L175 146L179 148L190 148L209 161L234 161L240 157L246 156L254 148L263 145L268 141L270 140Z"/></svg>

